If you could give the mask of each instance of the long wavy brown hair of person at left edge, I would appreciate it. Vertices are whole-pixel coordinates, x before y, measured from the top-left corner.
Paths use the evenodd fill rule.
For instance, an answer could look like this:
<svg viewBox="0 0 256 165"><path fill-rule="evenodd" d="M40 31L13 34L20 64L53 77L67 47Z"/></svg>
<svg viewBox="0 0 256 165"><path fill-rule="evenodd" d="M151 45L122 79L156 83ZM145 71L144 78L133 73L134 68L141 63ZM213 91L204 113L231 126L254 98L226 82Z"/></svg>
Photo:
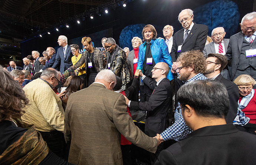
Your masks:
<svg viewBox="0 0 256 165"><path fill-rule="evenodd" d="M0 77L0 121L20 118L25 113L22 108L29 104L29 100L8 71L0 68Z"/></svg>

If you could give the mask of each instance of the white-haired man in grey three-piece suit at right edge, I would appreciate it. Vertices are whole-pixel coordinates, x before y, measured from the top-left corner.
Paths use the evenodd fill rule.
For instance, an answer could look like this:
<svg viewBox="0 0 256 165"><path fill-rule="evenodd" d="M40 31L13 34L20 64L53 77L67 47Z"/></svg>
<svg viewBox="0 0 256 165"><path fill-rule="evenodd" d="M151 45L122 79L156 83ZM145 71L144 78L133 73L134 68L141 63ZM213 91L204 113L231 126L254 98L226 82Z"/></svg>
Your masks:
<svg viewBox="0 0 256 165"><path fill-rule="evenodd" d="M241 32L230 37L227 60L232 59L230 79L249 74L256 80L256 12L246 14L240 23Z"/></svg>

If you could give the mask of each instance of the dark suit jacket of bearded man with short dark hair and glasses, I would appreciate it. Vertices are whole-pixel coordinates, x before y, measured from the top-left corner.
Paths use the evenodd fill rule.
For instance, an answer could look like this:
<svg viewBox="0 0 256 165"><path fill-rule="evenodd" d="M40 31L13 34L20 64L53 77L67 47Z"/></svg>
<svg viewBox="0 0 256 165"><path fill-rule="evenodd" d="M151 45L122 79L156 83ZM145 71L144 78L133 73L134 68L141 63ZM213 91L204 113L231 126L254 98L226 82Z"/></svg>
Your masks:
<svg viewBox="0 0 256 165"><path fill-rule="evenodd" d="M237 101L239 100L238 87L232 81L222 77L221 74L219 74L214 79L214 81L219 81L220 83L223 83L227 88L230 104L229 104L229 112L227 113L227 116L225 117L225 119L227 123L232 123L234 121L234 118L236 118L236 113L237 113Z"/></svg>

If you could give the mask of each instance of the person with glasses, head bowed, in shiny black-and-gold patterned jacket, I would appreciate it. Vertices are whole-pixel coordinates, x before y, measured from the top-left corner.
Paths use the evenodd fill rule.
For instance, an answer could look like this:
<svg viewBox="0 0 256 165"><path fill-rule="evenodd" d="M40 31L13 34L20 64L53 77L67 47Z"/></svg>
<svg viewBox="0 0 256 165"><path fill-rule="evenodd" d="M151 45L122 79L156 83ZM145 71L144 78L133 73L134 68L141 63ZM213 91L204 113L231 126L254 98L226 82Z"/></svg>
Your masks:
<svg viewBox="0 0 256 165"><path fill-rule="evenodd" d="M122 90L126 89L126 85L131 81L129 64L126 60L125 51L116 43L114 38L109 37L105 41L106 49L106 69L112 70L114 74L122 80Z"/></svg>

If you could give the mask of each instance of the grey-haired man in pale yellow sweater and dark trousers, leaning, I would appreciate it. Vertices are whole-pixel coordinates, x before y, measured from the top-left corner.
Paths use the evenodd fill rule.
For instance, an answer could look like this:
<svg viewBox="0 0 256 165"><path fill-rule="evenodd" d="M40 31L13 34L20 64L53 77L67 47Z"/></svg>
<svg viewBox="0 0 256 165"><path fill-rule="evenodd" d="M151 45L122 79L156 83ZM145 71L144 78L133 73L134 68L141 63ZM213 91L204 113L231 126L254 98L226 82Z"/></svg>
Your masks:
<svg viewBox="0 0 256 165"><path fill-rule="evenodd" d="M22 121L35 125L50 150L63 157L65 154L64 115L62 101L53 91L60 80L60 72L53 68L43 70L40 78L24 88L29 105L23 108Z"/></svg>

